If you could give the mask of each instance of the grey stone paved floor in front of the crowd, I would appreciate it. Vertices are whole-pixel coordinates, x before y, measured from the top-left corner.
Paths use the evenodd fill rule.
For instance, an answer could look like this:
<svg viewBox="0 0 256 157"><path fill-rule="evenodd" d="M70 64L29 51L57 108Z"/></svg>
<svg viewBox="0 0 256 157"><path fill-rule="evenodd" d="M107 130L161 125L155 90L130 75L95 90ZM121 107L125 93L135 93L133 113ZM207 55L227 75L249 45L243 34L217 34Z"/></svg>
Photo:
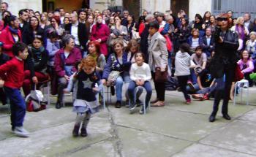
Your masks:
<svg viewBox="0 0 256 157"><path fill-rule="evenodd" d="M214 123L208 122L212 100L188 105L176 91L167 91L165 107L151 107L146 115L110 104L92 116L86 138L72 137L71 105L27 112L29 138L12 134L7 107L0 106L0 156L256 156L255 95L256 88L250 88L248 106L239 97L229 105L232 120L219 112Z"/></svg>

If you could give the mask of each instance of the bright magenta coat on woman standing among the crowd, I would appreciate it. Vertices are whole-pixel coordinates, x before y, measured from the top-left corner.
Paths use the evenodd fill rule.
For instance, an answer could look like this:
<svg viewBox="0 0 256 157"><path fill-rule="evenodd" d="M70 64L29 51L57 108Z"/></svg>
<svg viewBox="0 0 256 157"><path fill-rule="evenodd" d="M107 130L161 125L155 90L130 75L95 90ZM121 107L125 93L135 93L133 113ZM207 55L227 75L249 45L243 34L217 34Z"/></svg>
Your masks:
<svg viewBox="0 0 256 157"><path fill-rule="evenodd" d="M108 55L108 45L107 40L110 35L110 30L107 25L101 24L98 26L97 24L92 26L91 28L91 41L101 39L102 42L100 42L100 52L107 56Z"/></svg>

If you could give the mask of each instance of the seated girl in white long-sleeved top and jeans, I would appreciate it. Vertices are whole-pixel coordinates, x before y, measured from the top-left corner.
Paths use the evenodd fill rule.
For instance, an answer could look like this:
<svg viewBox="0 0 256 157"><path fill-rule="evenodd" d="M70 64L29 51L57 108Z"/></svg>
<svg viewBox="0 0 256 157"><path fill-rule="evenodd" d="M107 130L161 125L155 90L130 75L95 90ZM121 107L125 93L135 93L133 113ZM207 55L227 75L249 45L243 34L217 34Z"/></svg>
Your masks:
<svg viewBox="0 0 256 157"><path fill-rule="evenodd" d="M143 53L136 53L135 54L135 63L132 64L131 69L129 71L129 75L131 78L131 82L129 83L128 87L128 94L129 99L131 101L130 103L130 112L135 110L136 104L135 104L135 88L137 86L143 86L146 89L146 109L148 107L148 103L151 99L152 95L152 88L149 80L151 80L151 69L148 64L144 63L145 55ZM142 107L140 109L140 114L143 114L146 112L144 111L144 108Z"/></svg>

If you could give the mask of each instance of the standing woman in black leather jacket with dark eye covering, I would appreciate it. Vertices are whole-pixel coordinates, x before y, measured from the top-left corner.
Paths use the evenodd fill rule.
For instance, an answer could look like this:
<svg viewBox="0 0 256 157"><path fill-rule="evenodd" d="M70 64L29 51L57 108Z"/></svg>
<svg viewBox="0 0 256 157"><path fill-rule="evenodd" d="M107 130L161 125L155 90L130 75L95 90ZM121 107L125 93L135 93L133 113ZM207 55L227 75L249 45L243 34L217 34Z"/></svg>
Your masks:
<svg viewBox="0 0 256 157"><path fill-rule="evenodd" d="M216 41L214 58L211 61L211 76L214 78L222 78L225 83L224 88L217 88L214 96L214 109L209 117L210 122L214 122L217 115L219 102L223 98L222 115L226 120L230 120L227 114L227 105L230 99L230 88L235 77L236 62L238 61L237 49L238 34L230 31L228 28L227 14L217 16L217 31L214 35ZM219 83L221 85L221 83Z"/></svg>

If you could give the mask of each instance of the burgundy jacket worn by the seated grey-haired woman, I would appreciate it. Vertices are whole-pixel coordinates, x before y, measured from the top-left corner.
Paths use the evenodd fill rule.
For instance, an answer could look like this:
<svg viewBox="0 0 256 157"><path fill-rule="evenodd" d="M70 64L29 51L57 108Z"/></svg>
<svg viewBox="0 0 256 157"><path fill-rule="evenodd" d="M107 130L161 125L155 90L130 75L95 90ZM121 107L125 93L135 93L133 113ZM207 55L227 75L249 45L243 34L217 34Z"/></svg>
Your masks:
<svg viewBox="0 0 256 157"><path fill-rule="evenodd" d="M66 74L64 65L73 66L72 72L76 72L75 64L82 59L81 52L78 48L73 48L67 58L64 58L64 49L61 48L55 55L54 68L58 77L64 77Z"/></svg>

